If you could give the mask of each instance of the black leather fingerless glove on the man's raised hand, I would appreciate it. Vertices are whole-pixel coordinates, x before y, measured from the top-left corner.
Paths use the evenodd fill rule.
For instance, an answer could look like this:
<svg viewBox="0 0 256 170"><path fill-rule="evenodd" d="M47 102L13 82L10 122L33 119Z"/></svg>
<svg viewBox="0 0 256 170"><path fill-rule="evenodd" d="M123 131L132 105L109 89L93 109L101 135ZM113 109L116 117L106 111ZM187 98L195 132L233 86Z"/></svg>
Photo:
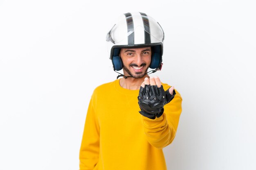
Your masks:
<svg viewBox="0 0 256 170"><path fill-rule="evenodd" d="M173 95L169 93L169 89L164 92L164 88L157 85L145 85L139 89L139 113L150 119L159 118L164 113L164 105L173 100L176 92L173 90Z"/></svg>

